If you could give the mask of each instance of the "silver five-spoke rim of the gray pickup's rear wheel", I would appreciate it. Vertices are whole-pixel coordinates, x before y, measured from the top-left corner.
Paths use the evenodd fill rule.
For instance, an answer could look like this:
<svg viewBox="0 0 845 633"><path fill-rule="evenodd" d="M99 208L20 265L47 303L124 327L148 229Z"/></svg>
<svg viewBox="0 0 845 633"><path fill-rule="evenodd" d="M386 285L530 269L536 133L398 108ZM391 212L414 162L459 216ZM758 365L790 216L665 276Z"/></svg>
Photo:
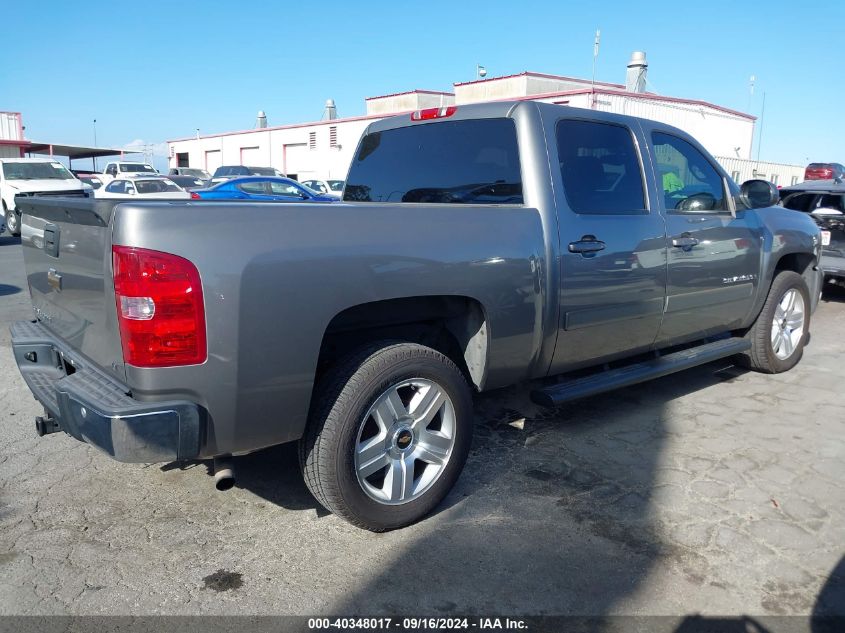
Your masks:
<svg viewBox="0 0 845 633"><path fill-rule="evenodd" d="M390 387L370 407L355 441L355 474L371 499L400 505L434 485L455 446L455 408L424 378Z"/></svg>

